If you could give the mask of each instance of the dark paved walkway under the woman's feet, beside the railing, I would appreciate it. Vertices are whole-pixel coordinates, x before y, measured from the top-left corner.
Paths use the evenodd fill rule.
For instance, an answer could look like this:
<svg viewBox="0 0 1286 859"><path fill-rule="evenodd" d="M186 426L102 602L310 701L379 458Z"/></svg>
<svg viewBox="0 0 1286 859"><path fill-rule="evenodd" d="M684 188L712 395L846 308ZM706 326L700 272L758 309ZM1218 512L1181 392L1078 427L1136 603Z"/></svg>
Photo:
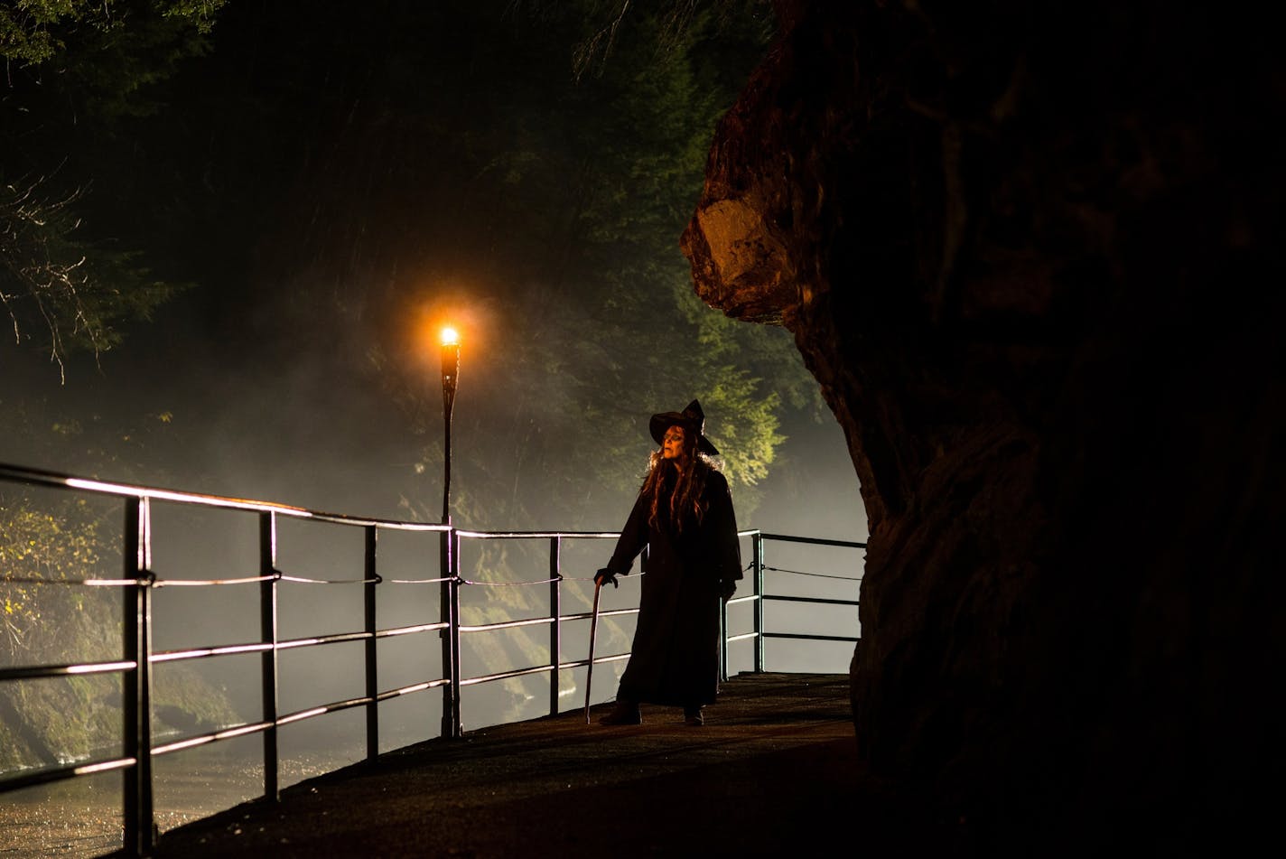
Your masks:
<svg viewBox="0 0 1286 859"><path fill-rule="evenodd" d="M607 709L390 752L171 829L156 855L831 856L858 826L908 846L859 788L846 676L739 675L702 728L649 706L598 725Z"/></svg>

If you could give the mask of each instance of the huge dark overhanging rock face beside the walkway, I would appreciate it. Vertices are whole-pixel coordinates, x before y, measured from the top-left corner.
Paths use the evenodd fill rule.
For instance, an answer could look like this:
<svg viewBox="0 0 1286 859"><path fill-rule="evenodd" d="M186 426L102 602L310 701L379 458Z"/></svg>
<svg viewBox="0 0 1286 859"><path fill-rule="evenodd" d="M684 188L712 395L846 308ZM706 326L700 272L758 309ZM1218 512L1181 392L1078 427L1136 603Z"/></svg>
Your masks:
<svg viewBox="0 0 1286 859"><path fill-rule="evenodd" d="M864 764L1008 846L1281 773L1286 75L1174 5L779 3L683 235L846 433Z"/></svg>

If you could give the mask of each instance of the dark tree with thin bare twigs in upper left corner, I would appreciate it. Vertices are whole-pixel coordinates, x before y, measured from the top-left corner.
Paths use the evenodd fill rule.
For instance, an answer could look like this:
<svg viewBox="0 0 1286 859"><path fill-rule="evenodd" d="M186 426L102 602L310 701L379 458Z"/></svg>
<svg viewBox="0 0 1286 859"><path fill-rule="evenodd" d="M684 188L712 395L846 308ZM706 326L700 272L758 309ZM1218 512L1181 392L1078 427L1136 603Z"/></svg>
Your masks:
<svg viewBox="0 0 1286 859"><path fill-rule="evenodd" d="M85 228L94 175L84 135L154 109L147 90L203 49L225 0L30 0L0 8L9 67L0 132L0 303L14 341L63 359L120 341L175 284L143 252ZM68 105L69 109L68 109Z"/></svg>

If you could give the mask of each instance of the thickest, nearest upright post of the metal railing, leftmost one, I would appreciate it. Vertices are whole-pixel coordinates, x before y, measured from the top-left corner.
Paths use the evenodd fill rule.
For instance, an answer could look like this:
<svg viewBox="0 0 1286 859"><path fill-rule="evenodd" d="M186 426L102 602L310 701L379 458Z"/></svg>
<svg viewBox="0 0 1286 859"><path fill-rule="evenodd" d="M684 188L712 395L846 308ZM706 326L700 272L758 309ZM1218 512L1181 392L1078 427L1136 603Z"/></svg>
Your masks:
<svg viewBox="0 0 1286 859"><path fill-rule="evenodd" d="M125 503L121 554L125 589L125 658L134 669L123 676L123 754L134 757L125 769L125 851L152 854L156 823L152 801L152 514L147 498Z"/></svg>

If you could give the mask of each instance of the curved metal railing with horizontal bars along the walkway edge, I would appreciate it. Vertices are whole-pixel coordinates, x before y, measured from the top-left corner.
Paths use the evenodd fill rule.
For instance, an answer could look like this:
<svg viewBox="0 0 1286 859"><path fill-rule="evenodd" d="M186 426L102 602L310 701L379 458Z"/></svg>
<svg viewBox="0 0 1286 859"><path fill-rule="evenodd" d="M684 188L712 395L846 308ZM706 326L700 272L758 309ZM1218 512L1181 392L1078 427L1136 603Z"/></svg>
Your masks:
<svg viewBox="0 0 1286 859"><path fill-rule="evenodd" d="M81 761L72 765L49 766L18 775L0 778L0 793L17 791L21 788L49 782L64 781L103 773L121 770L123 775L123 850L126 854L147 855L154 846L156 826L153 808L152 760L162 755L175 754L183 750L204 746L208 743L246 737L251 734L262 736L264 756L264 796L275 800L279 795L279 751L278 729L283 725L315 719L322 715L361 707L365 712L365 747L367 757L374 759L379 755L379 718L378 707L381 702L400 698L406 694L440 689L442 693L442 721L441 734L444 737L459 737L462 730L460 691L462 688L505 680L526 675L547 674L549 676L549 714L557 715L561 711L561 678L568 670L586 667L589 660L563 660L562 634L563 626L572 621L589 620L588 612L563 613L562 597L563 584L575 580L575 576L562 574L563 545L568 540L615 540L617 532L588 532L588 531L469 531L457 529L450 525L401 522L390 520L370 520L352 516L340 516L322 513L297 507L273 504L265 502L222 498L215 495L201 495L195 493L181 493L163 489L135 486L129 484L112 484L96 480L86 480L69 475L37 471L31 468L0 464L0 482L23 484L30 486L51 487L69 490L75 493L87 493L98 496L120 499L123 503L123 526L121 531L122 547L122 576L120 579L81 579L81 580L50 580L50 579L22 579L0 571L0 584L30 584L30 585L71 585L84 588L111 588L118 589L122 594L122 628L123 648L121 658L68 665L17 665L0 667L0 683L13 680L28 680L39 678L67 678L73 675L114 674L120 675L123 685L122 698L122 750L121 755ZM258 570L255 575L233 579L161 579L153 571L152 565L152 508L156 503L195 505L199 508L239 511L253 513L258 518ZM301 576L291 576L278 568L278 526L283 520L307 520L323 522L337 527L360 529L363 532L364 563L363 577L358 580L319 580ZM424 552L426 557L439 557L445 559L446 568L439 570L439 575L431 579L383 579L379 568L378 538L381 532L404 531L418 534L436 534L440 541L440 552ZM728 646L734 642L754 642L754 671L764 671L766 639L784 638L801 640L835 640L856 642L856 637L847 635L818 635L796 634L784 631L769 631L764 622L764 606L770 602L802 602L810 604L838 604L856 607L854 599L831 599L818 597L799 597L786 594L768 594L764 590L765 571L796 575L791 570L779 570L765 565L764 545L768 541L841 547L845 549L862 549L864 543L822 540L813 538L790 536L779 534L765 534L757 530L739 532L739 536L748 538L751 544L751 561L746 570L751 574L748 584L751 593L736 597L721 606L720 610L720 639L723 642L720 653L720 670L723 676L728 676ZM548 541L548 576L535 581L503 583L505 585L527 585L548 588L549 613L541 617L511 620L494 624L468 625L460 622L460 593L462 588L472 585L487 585L498 583L471 581L460 576L460 541L489 541L489 540L547 540ZM646 574L646 559L644 559ZM860 576L826 576L846 579L856 584ZM593 576L580 579L592 580ZM312 583L312 584L343 584L360 586L363 590L363 629L341 633L328 633L316 637L283 639L279 637L279 584L287 583ZM421 622L399 628L381 629L377 624L377 589L383 584L399 585L440 585L439 619L432 622ZM174 651L154 651L152 647L153 631L153 594L161 588L225 588L249 586L258 588L258 613L260 635L258 640L242 642L235 644L197 647ZM748 604L752 608L750 631L728 634L729 608ZM738 610L739 611L739 610ZM638 613L637 607L615 608L601 611L601 617L629 616ZM855 611L854 611L855 620ZM485 674L478 676L462 676L460 643L466 634L480 634L496 630L517 629L523 626L549 628L549 660L544 664ZM377 643L401 635L439 633L442 647L442 675L432 679L423 679L415 683L394 689L379 689L379 658ZM336 643L361 642L364 644L364 691L363 694L342 701L332 701L314 707L293 712L280 712L279 698L279 656L283 652L323 647ZM261 718L253 721L244 721L233 725L224 725L219 730L206 732L184 737L177 741L156 743L152 736L152 669L162 662L184 662L190 660L206 660L233 655L260 655L261 674ZM615 662L629 658L629 652L594 657L594 664Z"/></svg>

